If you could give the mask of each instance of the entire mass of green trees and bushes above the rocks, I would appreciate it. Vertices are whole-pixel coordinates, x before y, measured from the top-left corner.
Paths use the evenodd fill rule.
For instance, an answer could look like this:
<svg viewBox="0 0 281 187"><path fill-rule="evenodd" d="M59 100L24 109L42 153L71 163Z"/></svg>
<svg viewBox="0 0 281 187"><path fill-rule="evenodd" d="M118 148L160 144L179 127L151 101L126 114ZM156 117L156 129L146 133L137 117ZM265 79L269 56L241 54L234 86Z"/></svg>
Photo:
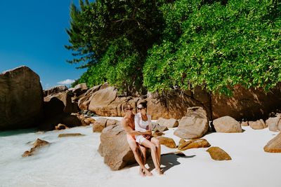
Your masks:
<svg viewBox="0 0 281 187"><path fill-rule="evenodd" d="M268 91L281 81L278 0L81 1L67 29L77 83L163 92L200 85Z"/></svg>

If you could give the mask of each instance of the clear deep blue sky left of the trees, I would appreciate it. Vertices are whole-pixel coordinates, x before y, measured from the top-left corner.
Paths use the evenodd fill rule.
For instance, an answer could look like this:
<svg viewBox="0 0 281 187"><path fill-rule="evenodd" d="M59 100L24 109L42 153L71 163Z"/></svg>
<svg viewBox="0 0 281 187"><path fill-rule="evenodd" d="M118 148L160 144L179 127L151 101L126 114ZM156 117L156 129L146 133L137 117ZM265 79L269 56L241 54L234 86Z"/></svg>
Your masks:
<svg viewBox="0 0 281 187"><path fill-rule="evenodd" d="M78 5L79 0L72 0ZM0 2L0 73L25 65L40 76L43 89L79 78L86 69L69 64L71 0ZM67 85L69 86L69 85Z"/></svg>

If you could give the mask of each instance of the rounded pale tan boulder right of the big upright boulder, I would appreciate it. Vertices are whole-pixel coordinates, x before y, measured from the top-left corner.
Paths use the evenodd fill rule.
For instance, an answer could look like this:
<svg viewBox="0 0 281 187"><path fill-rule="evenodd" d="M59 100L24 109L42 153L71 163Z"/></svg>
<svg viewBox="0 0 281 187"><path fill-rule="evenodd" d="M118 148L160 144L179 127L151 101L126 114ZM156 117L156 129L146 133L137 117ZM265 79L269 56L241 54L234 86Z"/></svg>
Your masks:
<svg viewBox="0 0 281 187"><path fill-rule="evenodd" d="M216 132L243 132L240 123L230 116L223 116L213 121Z"/></svg>

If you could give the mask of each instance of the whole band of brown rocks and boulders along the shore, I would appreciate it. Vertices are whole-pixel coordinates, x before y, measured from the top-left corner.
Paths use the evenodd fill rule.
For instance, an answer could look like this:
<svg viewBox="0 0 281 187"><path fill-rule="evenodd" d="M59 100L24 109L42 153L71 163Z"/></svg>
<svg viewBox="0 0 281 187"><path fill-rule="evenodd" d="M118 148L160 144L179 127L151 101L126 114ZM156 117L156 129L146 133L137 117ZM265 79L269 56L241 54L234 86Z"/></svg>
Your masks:
<svg viewBox="0 0 281 187"><path fill-rule="evenodd" d="M201 88L194 92L175 91L166 97L159 95L127 96L107 83L87 88L86 84L68 89L57 86L42 90L39 76L28 67L18 67L0 74L0 130L38 127L39 130L64 130L69 127L93 124L93 132L100 132L98 152L112 169L122 169L136 162L126 143L126 133L118 120L92 116L123 116L122 106L131 104L136 111L138 103L148 102L154 136L169 148L176 148L173 139L164 137L164 131L176 127L174 135L182 139L178 150L208 147L204 137L208 132L242 133L242 126L254 130L268 127L281 131L281 92L276 89L265 95L261 90L245 90L237 86L233 97L210 95ZM13 116L13 118L11 117ZM267 116L267 117L266 117ZM268 118L269 117L269 118ZM243 120L249 119L249 120ZM66 134L65 136L83 134ZM280 153L280 134L268 142L264 151ZM193 139L185 142L185 139ZM35 149L33 147L32 149ZM24 155L32 155L26 152ZM218 147L208 149L215 160L231 160Z"/></svg>

